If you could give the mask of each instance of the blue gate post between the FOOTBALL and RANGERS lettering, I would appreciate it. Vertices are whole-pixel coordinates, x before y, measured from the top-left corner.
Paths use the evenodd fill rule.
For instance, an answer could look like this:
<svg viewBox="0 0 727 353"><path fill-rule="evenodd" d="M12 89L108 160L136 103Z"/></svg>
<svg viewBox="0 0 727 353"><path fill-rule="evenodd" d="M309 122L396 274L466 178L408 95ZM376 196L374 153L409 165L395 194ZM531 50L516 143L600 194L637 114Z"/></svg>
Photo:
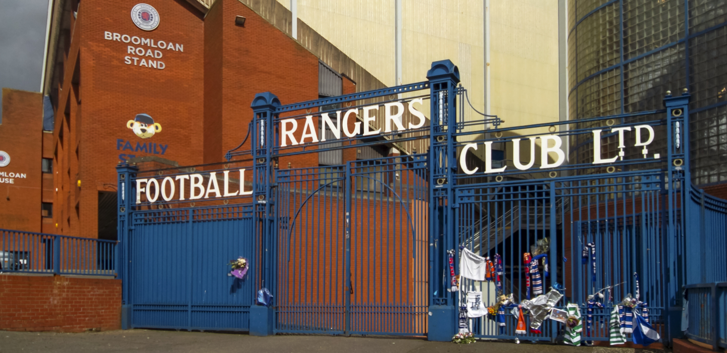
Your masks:
<svg viewBox="0 0 727 353"><path fill-rule="evenodd" d="M274 234L271 219L275 219L271 214L270 201L272 195L273 180L273 116L276 107L279 107L280 100L275 94L270 92L255 94L252 100L252 111L254 118L252 123L252 158L253 158L253 182L252 182L252 203L253 203L253 234L260 239L260 244L256 244L253 248L260 249L260 259L257 259L260 266L260 288L268 288L274 290L273 276L276 274L274 270L275 259L274 253L276 249L273 247ZM244 183L241 180L240 183ZM252 265L254 266L254 264ZM276 293L273 293L275 296ZM253 296L256 298L257 296ZM253 299L255 301L255 299ZM250 307L250 334L252 336L268 336L273 334L273 305L263 307L257 303L251 303Z"/></svg>

